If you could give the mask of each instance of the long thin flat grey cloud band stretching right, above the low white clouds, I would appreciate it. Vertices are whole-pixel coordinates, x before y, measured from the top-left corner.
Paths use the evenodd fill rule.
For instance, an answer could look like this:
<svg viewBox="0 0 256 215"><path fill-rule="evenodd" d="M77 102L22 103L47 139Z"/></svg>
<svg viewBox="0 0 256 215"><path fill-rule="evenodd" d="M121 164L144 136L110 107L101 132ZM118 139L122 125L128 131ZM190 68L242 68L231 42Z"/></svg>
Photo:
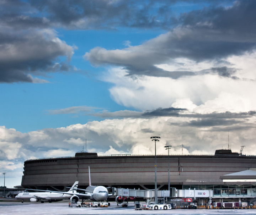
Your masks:
<svg viewBox="0 0 256 215"><path fill-rule="evenodd" d="M189 123L191 126L197 125L217 125L219 123L233 123L232 120L239 122L239 120L246 120L256 116L256 111L248 112L212 112L210 114L198 114L190 113L185 108L157 108L155 110L147 111L132 111L132 110L119 110L114 112L109 112L103 108L88 107L88 106L73 106L69 108L59 109L59 110L48 110L48 114L86 114L89 116L96 116L101 118L154 118L154 117L186 117L193 118ZM195 120L194 120L195 119ZM226 121L230 120L230 121ZM188 125L188 123L187 123Z"/></svg>

